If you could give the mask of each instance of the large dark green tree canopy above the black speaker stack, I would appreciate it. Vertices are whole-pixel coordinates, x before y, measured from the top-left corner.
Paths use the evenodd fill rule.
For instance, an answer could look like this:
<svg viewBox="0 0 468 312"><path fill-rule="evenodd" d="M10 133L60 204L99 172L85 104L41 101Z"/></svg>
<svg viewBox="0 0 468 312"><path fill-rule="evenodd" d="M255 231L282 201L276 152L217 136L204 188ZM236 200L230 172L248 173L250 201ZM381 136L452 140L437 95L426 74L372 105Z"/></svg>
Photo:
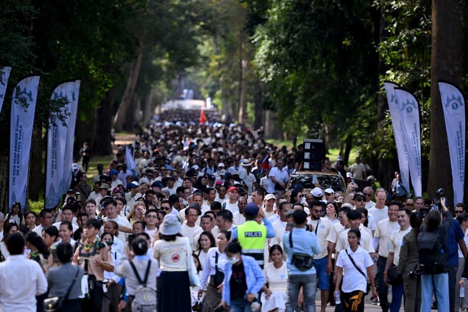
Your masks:
<svg viewBox="0 0 468 312"><path fill-rule="evenodd" d="M271 1L255 64L284 129L342 137L375 103L375 9L367 1ZM374 100L374 101L373 101ZM337 140L338 141L338 140Z"/></svg>

